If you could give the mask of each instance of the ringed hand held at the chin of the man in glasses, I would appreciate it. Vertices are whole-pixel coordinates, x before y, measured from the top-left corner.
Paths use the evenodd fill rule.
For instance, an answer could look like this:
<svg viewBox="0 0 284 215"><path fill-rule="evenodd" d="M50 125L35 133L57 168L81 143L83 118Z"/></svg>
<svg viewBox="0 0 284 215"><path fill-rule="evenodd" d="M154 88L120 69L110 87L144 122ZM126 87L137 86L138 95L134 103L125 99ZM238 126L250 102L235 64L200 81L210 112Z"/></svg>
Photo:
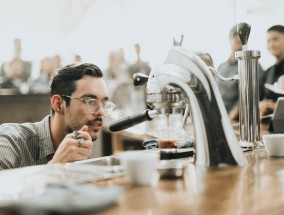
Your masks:
<svg viewBox="0 0 284 215"><path fill-rule="evenodd" d="M82 140L76 139L74 132L67 134L59 144L53 159L49 163L65 163L88 158L92 152L92 138L88 133L88 127L86 125L84 125L80 131L82 133Z"/></svg>

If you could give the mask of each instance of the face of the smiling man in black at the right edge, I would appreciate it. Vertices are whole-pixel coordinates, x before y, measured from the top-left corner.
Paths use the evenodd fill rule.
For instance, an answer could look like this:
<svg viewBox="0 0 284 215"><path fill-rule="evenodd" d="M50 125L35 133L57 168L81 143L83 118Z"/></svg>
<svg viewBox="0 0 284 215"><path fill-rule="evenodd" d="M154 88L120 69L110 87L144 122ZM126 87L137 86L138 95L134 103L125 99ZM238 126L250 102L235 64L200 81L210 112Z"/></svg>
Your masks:
<svg viewBox="0 0 284 215"><path fill-rule="evenodd" d="M267 48L275 57L284 56L284 34L277 31L267 32Z"/></svg>

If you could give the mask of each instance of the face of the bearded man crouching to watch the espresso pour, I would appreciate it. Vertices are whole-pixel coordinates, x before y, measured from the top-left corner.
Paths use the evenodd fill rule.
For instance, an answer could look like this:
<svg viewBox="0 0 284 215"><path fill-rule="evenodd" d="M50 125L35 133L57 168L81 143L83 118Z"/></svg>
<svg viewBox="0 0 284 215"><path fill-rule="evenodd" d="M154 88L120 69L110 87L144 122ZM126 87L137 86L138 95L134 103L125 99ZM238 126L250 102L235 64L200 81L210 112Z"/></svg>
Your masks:
<svg viewBox="0 0 284 215"><path fill-rule="evenodd" d="M96 99L99 102L107 101L107 87L102 78L84 76L76 82L76 90L71 94L74 98ZM104 111L100 109L96 113L89 113L87 105L76 99L70 100L70 106L66 107L65 123L69 130L79 130L83 125L88 126L88 131L93 140L98 138L98 132L102 126Z"/></svg>

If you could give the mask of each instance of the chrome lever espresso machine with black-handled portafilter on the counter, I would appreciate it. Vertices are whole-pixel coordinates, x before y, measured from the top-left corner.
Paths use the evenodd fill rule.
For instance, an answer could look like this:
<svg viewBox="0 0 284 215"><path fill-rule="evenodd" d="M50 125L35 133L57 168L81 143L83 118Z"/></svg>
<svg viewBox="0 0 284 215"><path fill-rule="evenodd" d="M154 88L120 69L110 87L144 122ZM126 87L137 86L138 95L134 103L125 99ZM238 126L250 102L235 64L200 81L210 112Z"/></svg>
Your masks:
<svg viewBox="0 0 284 215"><path fill-rule="evenodd" d="M146 84L146 102L151 109L113 122L110 130L123 130L158 114L182 112L182 123L190 116L194 124L196 165L246 165L212 72L181 43L182 40L174 41L164 63L153 69L149 77L134 76L135 85Z"/></svg>

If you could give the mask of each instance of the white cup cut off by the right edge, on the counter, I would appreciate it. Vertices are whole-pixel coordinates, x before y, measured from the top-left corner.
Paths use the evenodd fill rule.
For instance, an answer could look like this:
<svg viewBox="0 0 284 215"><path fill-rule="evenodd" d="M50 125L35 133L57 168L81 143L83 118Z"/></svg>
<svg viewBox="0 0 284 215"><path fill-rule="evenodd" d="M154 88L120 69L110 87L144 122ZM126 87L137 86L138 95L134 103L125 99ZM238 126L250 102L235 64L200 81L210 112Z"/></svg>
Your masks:
<svg viewBox="0 0 284 215"><path fill-rule="evenodd" d="M264 134L262 138L269 156L284 156L284 134Z"/></svg>

